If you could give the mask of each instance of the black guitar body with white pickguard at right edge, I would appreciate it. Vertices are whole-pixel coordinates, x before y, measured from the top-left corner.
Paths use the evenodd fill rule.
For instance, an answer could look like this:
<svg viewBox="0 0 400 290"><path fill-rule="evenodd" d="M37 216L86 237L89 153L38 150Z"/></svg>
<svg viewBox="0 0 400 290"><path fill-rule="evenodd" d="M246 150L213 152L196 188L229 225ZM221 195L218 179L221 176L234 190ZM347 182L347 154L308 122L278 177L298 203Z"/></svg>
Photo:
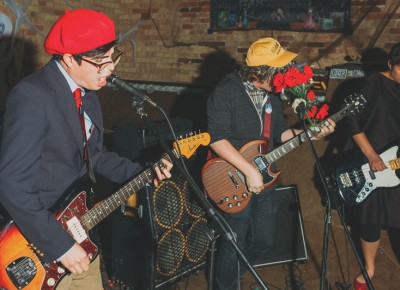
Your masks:
<svg viewBox="0 0 400 290"><path fill-rule="evenodd" d="M377 151L387 169L373 172L368 159L359 150L343 154L336 169L336 182L342 199L356 205L364 202L378 188L400 185L399 140Z"/></svg>

